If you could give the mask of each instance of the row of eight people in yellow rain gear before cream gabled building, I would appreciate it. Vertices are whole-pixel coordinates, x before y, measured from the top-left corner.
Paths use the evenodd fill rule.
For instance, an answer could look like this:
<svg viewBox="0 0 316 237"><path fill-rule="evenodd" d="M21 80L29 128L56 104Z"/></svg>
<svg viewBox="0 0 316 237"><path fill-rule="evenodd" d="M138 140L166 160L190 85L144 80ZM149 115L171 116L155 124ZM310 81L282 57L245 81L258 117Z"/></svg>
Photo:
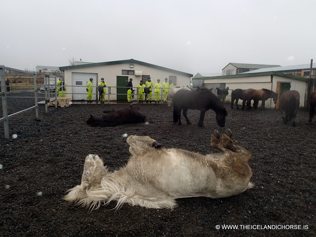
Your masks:
<svg viewBox="0 0 316 237"><path fill-rule="evenodd" d="M57 82L58 83L58 82ZM61 83L61 82L60 82ZM60 84L59 84L60 85ZM133 79L130 78L129 82L126 84L127 87L127 101L128 103L132 103L132 94L133 94ZM152 102L152 90L154 88L154 96L155 103L160 103L160 95L162 89L163 102L167 102L166 96L168 91L173 88L172 81L168 82L168 78L165 78L165 82L160 83L160 79L157 79L157 83L151 81L151 78L148 77L148 80L144 83L142 80L138 85L138 102L143 103L146 100L146 103ZM104 78L101 78L101 82L98 86L99 91L99 101L101 104L104 104L105 93L106 93L106 83L104 82ZM92 103L92 90L93 90L93 78L89 79L89 82L86 85L87 90L87 103Z"/></svg>

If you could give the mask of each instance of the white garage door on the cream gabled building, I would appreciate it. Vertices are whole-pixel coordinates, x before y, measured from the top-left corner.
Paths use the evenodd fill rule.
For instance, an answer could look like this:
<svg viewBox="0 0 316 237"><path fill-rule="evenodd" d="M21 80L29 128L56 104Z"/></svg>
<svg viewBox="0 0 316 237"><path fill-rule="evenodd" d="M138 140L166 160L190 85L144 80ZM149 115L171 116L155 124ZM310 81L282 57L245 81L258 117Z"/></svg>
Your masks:
<svg viewBox="0 0 316 237"><path fill-rule="evenodd" d="M71 74L72 79L72 99L73 100L87 100L86 85L89 79L93 78L93 86L97 86L98 74L97 73L83 73L73 72ZM96 100L97 95L95 94L96 88L93 88L92 100ZM83 94L78 94L83 93Z"/></svg>

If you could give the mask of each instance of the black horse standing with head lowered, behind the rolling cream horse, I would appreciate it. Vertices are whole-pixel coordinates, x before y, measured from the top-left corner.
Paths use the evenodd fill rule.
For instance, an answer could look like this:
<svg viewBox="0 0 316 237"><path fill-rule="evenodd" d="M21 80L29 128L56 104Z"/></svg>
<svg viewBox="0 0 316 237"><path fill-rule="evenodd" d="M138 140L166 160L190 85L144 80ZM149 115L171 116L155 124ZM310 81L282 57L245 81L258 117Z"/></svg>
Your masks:
<svg viewBox="0 0 316 237"><path fill-rule="evenodd" d="M173 122L181 125L181 110L183 109L183 116L186 123L191 125L187 117L188 109L197 109L201 111L200 120L197 124L199 127L204 127L203 121L205 112L212 109L216 112L216 121L220 127L225 126L225 118L227 111L220 99L216 97L210 90L202 88L196 91L179 90L173 96Z"/></svg>

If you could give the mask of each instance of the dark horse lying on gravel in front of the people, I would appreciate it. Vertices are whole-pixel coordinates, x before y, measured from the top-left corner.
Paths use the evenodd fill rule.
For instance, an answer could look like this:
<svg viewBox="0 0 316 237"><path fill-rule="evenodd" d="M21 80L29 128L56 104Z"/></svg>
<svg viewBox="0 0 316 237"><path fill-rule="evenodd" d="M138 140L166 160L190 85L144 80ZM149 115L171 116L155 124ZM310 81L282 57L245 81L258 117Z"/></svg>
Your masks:
<svg viewBox="0 0 316 237"><path fill-rule="evenodd" d="M91 127L114 127L122 124L137 124L145 122L145 115L137 108L121 108L106 113L102 118L94 118L90 114L87 124Z"/></svg>

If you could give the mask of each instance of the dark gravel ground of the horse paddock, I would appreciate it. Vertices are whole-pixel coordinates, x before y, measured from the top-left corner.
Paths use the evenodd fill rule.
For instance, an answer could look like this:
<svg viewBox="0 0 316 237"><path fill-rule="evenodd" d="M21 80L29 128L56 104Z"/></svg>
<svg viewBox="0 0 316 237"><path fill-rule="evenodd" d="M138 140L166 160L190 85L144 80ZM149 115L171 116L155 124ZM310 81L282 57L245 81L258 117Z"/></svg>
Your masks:
<svg viewBox="0 0 316 237"><path fill-rule="evenodd" d="M34 102L8 98L8 105L12 114ZM9 120L10 134L17 135L11 140L4 139L1 124L1 236L316 235L316 123L307 123L307 111L298 112L297 126L292 127L283 124L278 110L232 110L226 104L225 127L216 124L215 112L210 110L205 127L198 128L198 111L188 111L191 126L178 126L172 121L172 107L141 104L148 124L86 125L90 114L100 117L103 110L125 106L82 104L49 107L45 113L45 106L40 105L39 121L34 119L35 111ZM223 133L226 128L232 130L236 144L253 153L249 165L256 186L242 194L177 199L179 207L173 210L124 204L115 211L112 202L89 211L62 200L68 189L80 184L86 155L98 154L110 170L127 163L125 133L150 136L167 148L207 154L216 152L210 147L214 129ZM237 225L238 229L223 225Z"/></svg>

